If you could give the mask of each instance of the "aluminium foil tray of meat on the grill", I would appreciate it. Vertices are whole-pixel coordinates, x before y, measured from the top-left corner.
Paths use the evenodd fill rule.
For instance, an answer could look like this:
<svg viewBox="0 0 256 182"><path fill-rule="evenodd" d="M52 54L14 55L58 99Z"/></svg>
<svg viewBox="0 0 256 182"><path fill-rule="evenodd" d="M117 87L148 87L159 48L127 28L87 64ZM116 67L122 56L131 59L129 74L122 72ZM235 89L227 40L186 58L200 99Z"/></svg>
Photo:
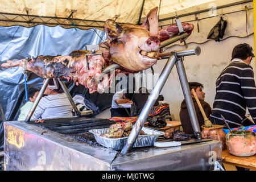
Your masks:
<svg viewBox="0 0 256 182"><path fill-rule="evenodd" d="M104 147L113 148L114 150L122 150L123 146L127 142L128 137L122 138L106 138L101 137L101 134L108 133L108 128L105 129L94 129L89 130L96 139L96 141ZM154 129L150 129L148 127L142 127L142 131L147 135L139 135L134 142L133 147L147 147L147 146L154 146L154 143L158 139L160 135L164 133L162 131L157 131Z"/></svg>

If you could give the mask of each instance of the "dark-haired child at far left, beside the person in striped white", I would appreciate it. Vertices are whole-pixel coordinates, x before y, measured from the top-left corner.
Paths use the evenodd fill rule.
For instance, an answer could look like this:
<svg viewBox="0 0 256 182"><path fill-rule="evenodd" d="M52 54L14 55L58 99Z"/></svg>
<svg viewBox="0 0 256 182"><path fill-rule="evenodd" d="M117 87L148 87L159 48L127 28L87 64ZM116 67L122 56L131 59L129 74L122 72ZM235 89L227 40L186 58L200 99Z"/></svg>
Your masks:
<svg viewBox="0 0 256 182"><path fill-rule="evenodd" d="M29 101L20 108L18 121L22 121L26 119L27 114L30 112L30 109L34 104L36 97L38 97L39 92L40 92L39 89L34 89L34 88L28 90L27 96Z"/></svg>

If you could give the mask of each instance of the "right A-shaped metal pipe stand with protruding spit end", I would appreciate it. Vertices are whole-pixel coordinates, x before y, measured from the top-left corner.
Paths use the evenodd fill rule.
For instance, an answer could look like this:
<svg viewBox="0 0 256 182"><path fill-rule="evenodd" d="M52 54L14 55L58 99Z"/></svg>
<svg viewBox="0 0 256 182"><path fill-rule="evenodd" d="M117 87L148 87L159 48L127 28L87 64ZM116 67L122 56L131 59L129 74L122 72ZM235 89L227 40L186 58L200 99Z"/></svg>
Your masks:
<svg viewBox="0 0 256 182"><path fill-rule="evenodd" d="M129 137L127 138L127 143L122 148L121 154L126 154L129 150L131 150L131 148L133 148L133 144L134 144L135 140L137 139L138 134L141 131L142 127L144 126L144 123L146 122L148 114L150 113L152 106L154 105L156 99L158 98L158 96L163 88L163 85L166 82L168 76L170 75L171 70L174 67L174 64L176 63L177 59L178 59L178 61L179 60L181 61L180 57L189 56L189 55L199 55L199 54L200 54L200 47L196 47L194 49L187 49L184 51L177 51L177 52L172 53L172 57L169 57L169 59L167 60L167 63L164 66L163 71L162 71L158 81L156 82L156 85L154 86L154 89L152 90L150 96L148 97L148 100L147 100L146 104L144 105L144 107L141 111L141 114L139 114L137 122L135 123L133 129L131 130ZM183 67L179 66L179 67L177 67L177 69L179 69L178 74L181 74L181 76L179 75L180 79L182 79L182 81L187 81L186 75L184 75L184 74L182 75L182 73L185 73L184 66ZM184 79L184 76L185 76L185 79ZM183 87L183 90L189 90L188 84L181 84L181 86ZM187 94L185 94L184 92L183 92L183 94L184 94L185 100L187 101L188 100ZM191 101L192 100L188 100L187 102L190 103ZM195 108L194 107L191 108L190 104L188 105L188 107L189 107L189 110L194 111L192 113L193 118L196 118L192 122L193 129L194 129L195 133L198 133L198 132L200 133L200 127L197 122L197 116L195 115ZM193 119L191 116L192 115L189 115L189 117L191 119ZM199 137L199 136L200 135L197 135L197 137Z"/></svg>

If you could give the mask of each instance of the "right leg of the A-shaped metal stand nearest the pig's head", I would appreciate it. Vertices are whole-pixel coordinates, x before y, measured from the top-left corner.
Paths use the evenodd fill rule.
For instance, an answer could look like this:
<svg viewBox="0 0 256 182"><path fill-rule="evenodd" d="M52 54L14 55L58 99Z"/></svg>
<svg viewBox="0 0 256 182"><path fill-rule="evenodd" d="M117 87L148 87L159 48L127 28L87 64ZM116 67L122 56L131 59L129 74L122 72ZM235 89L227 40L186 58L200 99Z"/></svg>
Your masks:
<svg viewBox="0 0 256 182"><path fill-rule="evenodd" d="M183 61L181 59L178 59L176 61L176 68L177 68L177 73L180 78L180 84L181 84L181 88L182 88L182 91L184 94L185 102L188 107L188 114L189 114L189 118L190 118L190 121L192 124L193 131L194 131L197 139L201 139L200 126L199 126L199 123L197 120L195 106L193 105L191 92L190 92L189 85L188 85L187 75L185 73L185 68L183 65Z"/></svg>

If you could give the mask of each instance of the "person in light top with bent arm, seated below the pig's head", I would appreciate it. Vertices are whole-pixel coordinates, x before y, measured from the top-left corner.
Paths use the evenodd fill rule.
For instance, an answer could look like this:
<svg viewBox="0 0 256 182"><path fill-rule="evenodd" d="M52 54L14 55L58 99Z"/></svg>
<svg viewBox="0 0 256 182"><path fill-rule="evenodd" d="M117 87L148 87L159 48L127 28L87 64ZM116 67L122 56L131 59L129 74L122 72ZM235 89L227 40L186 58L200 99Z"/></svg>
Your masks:
<svg viewBox="0 0 256 182"><path fill-rule="evenodd" d="M110 109L111 117L130 117L125 109L119 108L119 104L131 103L133 94L128 92L128 89L123 89L114 94L112 98L112 108Z"/></svg>

